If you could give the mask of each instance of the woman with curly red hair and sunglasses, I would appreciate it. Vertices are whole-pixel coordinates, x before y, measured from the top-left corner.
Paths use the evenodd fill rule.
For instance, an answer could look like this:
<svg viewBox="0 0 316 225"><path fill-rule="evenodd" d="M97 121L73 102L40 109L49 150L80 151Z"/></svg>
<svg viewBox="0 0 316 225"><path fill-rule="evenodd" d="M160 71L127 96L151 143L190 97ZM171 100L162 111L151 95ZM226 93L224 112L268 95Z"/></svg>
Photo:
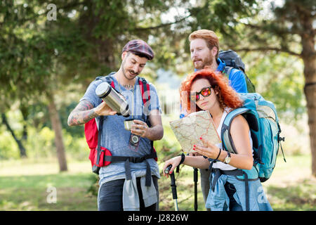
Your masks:
<svg viewBox="0 0 316 225"><path fill-rule="evenodd" d="M189 75L180 86L180 97L183 107L189 113L209 111L219 136L225 116L243 103L237 92L229 86L227 78L208 69ZM204 146L196 145L193 148L199 156L182 155L171 158L165 162L164 169L172 165L171 174L181 163L200 169L210 168L211 188L206 208L211 210L272 210L258 179L247 183L249 192L246 194L244 181L237 179L235 174L238 169L250 170L254 165L251 133L242 115L232 120L230 135L237 154L223 150L222 143L214 145L200 138ZM246 200L249 200L248 203Z"/></svg>

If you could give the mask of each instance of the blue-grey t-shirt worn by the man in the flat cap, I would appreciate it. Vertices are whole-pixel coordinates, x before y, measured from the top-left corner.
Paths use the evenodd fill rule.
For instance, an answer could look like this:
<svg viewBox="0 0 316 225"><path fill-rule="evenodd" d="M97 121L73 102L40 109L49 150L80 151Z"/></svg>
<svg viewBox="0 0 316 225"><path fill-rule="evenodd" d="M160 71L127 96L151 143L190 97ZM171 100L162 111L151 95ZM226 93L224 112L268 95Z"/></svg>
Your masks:
<svg viewBox="0 0 316 225"><path fill-rule="evenodd" d="M104 117L103 122L103 134L101 139L101 146L110 150L112 155L117 156L129 156L129 157L142 157L144 155L150 154L151 146L150 140L140 137L139 146L137 150L132 150L129 148L129 139L131 137L131 131L124 129L124 120L136 119L136 120L147 120L148 113L147 110L144 110L143 99L141 96L140 86L138 84L139 77L136 77L136 84L134 85L133 90L127 90L124 86L121 86L117 79L114 78L114 75L110 75L114 82L115 89L119 91L129 103L129 109L131 110L132 115L130 117L123 117L121 115L109 115ZM98 79L91 82L84 94L84 97L80 101L88 100L94 107L100 105L102 100L96 95L96 87L98 84L103 81ZM159 110L159 113L162 112L159 105L159 98L157 91L153 84L150 84L150 105L148 111L150 110ZM145 112L145 113L144 113ZM98 117L97 117L98 121ZM98 124L98 122L97 122ZM154 159L147 159L147 162L150 164L152 175L157 177L159 176L159 167L157 162ZM131 172L146 170L146 163L139 162L131 164ZM106 181L114 180L116 176L125 174L124 162L112 162L106 167L101 167L99 176L100 184Z"/></svg>

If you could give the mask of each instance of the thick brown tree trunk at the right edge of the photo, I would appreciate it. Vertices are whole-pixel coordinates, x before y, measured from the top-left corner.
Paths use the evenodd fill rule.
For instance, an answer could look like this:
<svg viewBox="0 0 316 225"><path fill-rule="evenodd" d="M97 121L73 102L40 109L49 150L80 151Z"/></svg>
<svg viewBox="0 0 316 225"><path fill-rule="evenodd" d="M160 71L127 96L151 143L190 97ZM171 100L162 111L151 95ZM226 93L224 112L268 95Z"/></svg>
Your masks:
<svg viewBox="0 0 316 225"><path fill-rule="evenodd" d="M301 36L304 62L305 86L304 93L308 109L308 127L310 129L310 150L312 152L312 175L316 176L316 51L315 34L312 29L312 19L302 21L305 34Z"/></svg>

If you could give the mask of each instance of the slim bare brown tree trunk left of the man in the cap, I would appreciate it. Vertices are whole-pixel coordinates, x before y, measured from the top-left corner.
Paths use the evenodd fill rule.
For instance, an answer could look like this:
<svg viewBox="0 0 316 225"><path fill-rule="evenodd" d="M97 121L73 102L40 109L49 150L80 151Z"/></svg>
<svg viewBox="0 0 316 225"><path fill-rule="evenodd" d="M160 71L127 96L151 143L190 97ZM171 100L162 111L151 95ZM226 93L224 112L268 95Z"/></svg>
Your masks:
<svg viewBox="0 0 316 225"><path fill-rule="evenodd" d="M67 171L67 160L65 155L65 146L62 140L62 125L60 122L60 117L55 105L53 95L48 96L48 113L51 117L51 125L55 131L55 146L57 150L57 158L59 163L60 172Z"/></svg>

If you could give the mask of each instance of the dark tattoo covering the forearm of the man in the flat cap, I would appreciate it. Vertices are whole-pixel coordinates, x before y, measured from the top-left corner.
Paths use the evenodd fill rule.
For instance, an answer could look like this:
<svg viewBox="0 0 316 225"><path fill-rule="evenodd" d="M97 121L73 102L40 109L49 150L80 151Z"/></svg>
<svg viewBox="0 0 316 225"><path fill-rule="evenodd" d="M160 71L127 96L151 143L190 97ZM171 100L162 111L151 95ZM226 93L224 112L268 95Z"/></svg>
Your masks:
<svg viewBox="0 0 316 225"><path fill-rule="evenodd" d="M75 126L85 124L89 120L98 117L94 112L93 105L87 100L81 101L68 117L68 125Z"/></svg>

